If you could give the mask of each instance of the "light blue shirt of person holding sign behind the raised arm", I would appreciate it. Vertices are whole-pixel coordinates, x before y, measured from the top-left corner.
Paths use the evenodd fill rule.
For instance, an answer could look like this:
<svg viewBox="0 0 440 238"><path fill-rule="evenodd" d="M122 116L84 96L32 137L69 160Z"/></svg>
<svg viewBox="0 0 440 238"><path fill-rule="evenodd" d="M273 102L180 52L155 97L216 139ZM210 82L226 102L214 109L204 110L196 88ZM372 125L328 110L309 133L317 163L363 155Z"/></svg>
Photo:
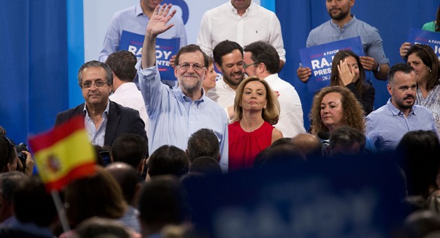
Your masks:
<svg viewBox="0 0 440 238"><path fill-rule="evenodd" d="M122 30L144 35L148 21L150 19L142 12L140 1L135 6L116 12L111 19L107 34L105 34L99 61L106 61L111 53L118 51ZM173 17L168 22L168 24L171 23L174 24L173 28L159 34L157 38L180 38L180 47L185 46L187 43L184 21L181 17Z"/></svg>

